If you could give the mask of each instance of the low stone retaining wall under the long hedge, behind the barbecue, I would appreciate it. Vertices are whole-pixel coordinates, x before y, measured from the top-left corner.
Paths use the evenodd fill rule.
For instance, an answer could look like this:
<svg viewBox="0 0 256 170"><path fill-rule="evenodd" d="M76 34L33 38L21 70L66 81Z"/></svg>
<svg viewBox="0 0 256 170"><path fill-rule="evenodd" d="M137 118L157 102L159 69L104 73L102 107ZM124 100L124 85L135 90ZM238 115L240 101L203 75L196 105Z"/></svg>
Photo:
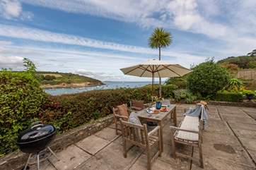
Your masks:
<svg viewBox="0 0 256 170"><path fill-rule="evenodd" d="M113 116L106 116L105 118L98 119L90 124L79 126L77 128L71 129L62 135L57 135L57 138L52 141L50 147L55 152L63 150L71 144L74 144L89 135L96 133L103 128L110 126L113 123ZM21 169L24 166L26 160L28 159L28 154L24 154L21 151L16 151L11 154L6 155L0 159L0 170L7 169Z"/></svg>

